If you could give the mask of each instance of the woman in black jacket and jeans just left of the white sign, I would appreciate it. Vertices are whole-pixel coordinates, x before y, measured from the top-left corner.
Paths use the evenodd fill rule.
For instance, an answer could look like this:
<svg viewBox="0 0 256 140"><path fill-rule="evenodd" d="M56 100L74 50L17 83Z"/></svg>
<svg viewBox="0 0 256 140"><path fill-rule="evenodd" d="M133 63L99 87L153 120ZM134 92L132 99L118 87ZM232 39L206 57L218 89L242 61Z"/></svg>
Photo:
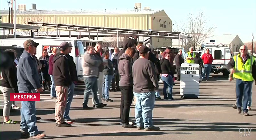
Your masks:
<svg viewBox="0 0 256 140"><path fill-rule="evenodd" d="M173 80L172 77L174 77L172 73L172 68L170 64L170 54L169 53L164 53L164 58L160 61L161 64L161 70L162 70L162 80L164 81L164 88L163 88L163 95L164 95L164 100L174 100L172 98L172 87L173 87ZM166 89L168 87L168 98L167 98L167 93Z"/></svg>

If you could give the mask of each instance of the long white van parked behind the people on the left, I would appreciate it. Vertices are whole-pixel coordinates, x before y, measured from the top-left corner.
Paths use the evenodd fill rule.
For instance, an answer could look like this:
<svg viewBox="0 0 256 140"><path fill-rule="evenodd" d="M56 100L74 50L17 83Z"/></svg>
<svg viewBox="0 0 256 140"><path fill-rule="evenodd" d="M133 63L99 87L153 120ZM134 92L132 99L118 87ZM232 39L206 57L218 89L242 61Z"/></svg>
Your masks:
<svg viewBox="0 0 256 140"><path fill-rule="evenodd" d="M0 45L5 46L23 46L25 38L18 38L18 39L0 39ZM72 44L72 52L69 54L74 58L74 62L76 64L77 76L78 80L83 80L83 69L81 65L81 60L84 55L84 46L83 42L76 39L31 39L36 43L39 43L37 46L36 57L39 58L42 55L43 48L47 48L48 55L51 55L51 48L52 47L60 47L60 44L64 41L71 42Z"/></svg>

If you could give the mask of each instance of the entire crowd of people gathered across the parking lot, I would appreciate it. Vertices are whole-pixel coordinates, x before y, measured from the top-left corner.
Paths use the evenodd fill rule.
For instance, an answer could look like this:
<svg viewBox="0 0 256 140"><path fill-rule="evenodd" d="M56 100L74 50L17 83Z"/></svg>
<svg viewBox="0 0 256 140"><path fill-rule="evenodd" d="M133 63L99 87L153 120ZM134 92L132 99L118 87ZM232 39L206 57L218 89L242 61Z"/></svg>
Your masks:
<svg viewBox="0 0 256 140"><path fill-rule="evenodd" d="M73 99L75 84L78 81L76 65L73 57L69 55L72 50L71 43L63 42L60 49L52 49L51 56L48 56L46 49L43 49L42 56L37 59L36 48L39 45L33 40L24 42L24 52L20 56L18 63L15 63L15 54L11 50L6 50L10 56L13 65L1 72L0 90L4 94L4 124L15 124L10 120L10 109L12 101L10 101L11 92L29 93L42 92L48 90L51 97L56 99L55 103L55 124L58 127L70 127L74 122L69 116L69 110ZM246 48L245 48L246 49ZM243 48L242 48L243 51ZM241 54L244 61L244 53ZM246 55L245 55L246 56ZM176 69L174 67L174 62ZM193 53L193 48L187 53L187 63L198 63L204 72L201 78L205 77L208 81L209 67L211 67L213 58L206 50L206 53L199 57L198 53ZM255 78L255 61L247 57L245 68L248 69L249 64L254 70L250 73L247 70L246 78L237 73L242 65L237 66L237 58L234 62L229 63L231 73L235 78L242 78L237 81L237 86L243 84L251 90L253 78ZM160 79L163 81L164 100L174 100L172 96L172 88L175 81L174 73L177 72L177 81L180 81L180 66L184 63L182 58L182 50L175 54L170 51L169 47L163 53L153 50L150 43L143 45L138 44L136 40L128 38L124 42L123 49L119 51L116 47L110 55L108 47L104 47L100 43L95 46L87 46L86 52L82 58L82 69L84 77L84 101L83 109L90 109L88 106L89 95L92 95L92 105L95 108L103 108L107 106L104 102L113 102L109 98L110 86L113 91L121 91L120 102L120 120L123 128L137 128L138 130L159 130L152 122L152 111L154 109L155 99L161 99L158 88ZM17 65L17 67L16 67ZM248 65L248 66L247 66ZM252 66L253 65L253 66ZM234 67L235 70L232 70ZM244 66L243 66L244 67ZM249 68L250 68L249 67ZM245 71L243 71L245 72ZM39 76L41 74L41 76ZM42 78L42 83L40 81ZM249 79L249 81L248 81ZM50 82L51 81L51 82ZM244 81L248 81L246 83ZM42 84L42 85L41 85ZM167 90L168 88L168 90ZM241 87L240 87L241 88ZM243 104L247 104L250 93L247 90L237 90L237 108L241 112L241 100L244 95ZM129 113L132 101L135 101L135 119L136 125L130 124ZM35 101L21 101L21 122L20 132L22 138L42 139L46 135L39 133L36 120ZM248 110L243 107L244 115Z"/></svg>

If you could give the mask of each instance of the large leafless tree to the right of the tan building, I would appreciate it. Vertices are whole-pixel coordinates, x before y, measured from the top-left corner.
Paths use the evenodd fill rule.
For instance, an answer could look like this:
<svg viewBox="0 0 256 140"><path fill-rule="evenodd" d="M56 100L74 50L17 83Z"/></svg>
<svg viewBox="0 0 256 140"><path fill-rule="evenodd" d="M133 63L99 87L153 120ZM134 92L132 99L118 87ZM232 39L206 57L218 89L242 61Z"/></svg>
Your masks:
<svg viewBox="0 0 256 140"><path fill-rule="evenodd" d="M208 21L203 12L198 12L196 15L189 13L187 20L181 22L180 27L176 26L176 31L191 35L192 38L188 41L188 46L196 50L214 32L215 27L208 26Z"/></svg>

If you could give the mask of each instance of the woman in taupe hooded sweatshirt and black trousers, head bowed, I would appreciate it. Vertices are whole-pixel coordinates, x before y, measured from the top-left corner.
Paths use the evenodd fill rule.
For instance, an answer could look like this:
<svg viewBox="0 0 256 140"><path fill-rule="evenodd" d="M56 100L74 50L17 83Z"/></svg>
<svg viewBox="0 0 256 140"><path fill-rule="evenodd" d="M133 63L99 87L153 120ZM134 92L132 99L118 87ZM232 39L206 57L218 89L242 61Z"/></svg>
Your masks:
<svg viewBox="0 0 256 140"><path fill-rule="evenodd" d="M124 128L134 128L129 124L130 106L133 99L133 79L131 58L135 54L135 48L129 47L119 57L118 72L120 77L119 87L121 89L120 117Z"/></svg>

